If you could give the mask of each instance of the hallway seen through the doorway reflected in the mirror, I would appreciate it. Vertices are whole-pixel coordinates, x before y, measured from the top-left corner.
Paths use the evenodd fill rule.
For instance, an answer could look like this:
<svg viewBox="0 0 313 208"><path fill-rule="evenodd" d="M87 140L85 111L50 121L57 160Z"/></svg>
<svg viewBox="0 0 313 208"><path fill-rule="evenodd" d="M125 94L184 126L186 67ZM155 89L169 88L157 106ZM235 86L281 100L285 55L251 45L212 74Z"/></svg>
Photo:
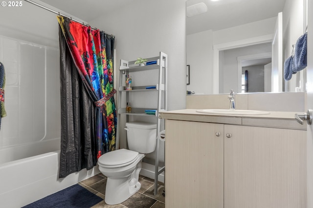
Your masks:
<svg viewBox="0 0 313 208"><path fill-rule="evenodd" d="M238 89L236 93L271 92L271 72L264 69L271 63L271 42L221 50L219 58L219 93L229 89Z"/></svg>

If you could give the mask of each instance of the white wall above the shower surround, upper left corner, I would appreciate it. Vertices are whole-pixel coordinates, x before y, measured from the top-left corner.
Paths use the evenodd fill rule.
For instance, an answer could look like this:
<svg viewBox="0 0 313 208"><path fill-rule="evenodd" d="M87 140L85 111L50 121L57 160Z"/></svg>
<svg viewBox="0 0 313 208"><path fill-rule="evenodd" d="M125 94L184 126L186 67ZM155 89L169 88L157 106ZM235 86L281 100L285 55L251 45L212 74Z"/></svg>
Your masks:
<svg viewBox="0 0 313 208"><path fill-rule="evenodd" d="M61 14L83 21L63 12L62 8L57 9L40 0L37 1ZM59 23L56 16L56 14L26 1L22 1L20 7L1 6L0 35L59 48Z"/></svg>

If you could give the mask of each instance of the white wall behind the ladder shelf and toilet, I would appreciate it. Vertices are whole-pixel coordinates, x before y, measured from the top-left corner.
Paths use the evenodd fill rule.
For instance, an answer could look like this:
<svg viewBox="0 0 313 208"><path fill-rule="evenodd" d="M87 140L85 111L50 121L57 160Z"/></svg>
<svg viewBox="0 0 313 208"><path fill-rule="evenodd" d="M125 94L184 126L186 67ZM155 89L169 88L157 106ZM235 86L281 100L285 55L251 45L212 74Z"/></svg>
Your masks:
<svg viewBox="0 0 313 208"><path fill-rule="evenodd" d="M156 57L159 51L166 53L168 110L185 108L185 0L134 0L127 8L103 14L90 24L116 36L115 84L118 84L116 75L120 59L130 61L137 57ZM139 103L148 102L139 99ZM120 128L120 148L127 147L123 125L125 121ZM160 145L160 153L164 153L164 144L161 142ZM164 161L164 155L160 159Z"/></svg>

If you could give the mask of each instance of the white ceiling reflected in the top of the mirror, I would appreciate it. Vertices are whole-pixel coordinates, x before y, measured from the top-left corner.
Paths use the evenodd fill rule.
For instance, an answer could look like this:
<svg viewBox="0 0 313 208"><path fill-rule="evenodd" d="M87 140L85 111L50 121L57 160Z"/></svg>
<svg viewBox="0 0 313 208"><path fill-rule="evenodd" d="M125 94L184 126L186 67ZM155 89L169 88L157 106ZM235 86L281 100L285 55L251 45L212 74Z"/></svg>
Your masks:
<svg viewBox="0 0 313 208"><path fill-rule="evenodd" d="M277 17L286 0L187 0L187 6L203 2L207 12L186 19L187 35L221 30L249 22Z"/></svg>

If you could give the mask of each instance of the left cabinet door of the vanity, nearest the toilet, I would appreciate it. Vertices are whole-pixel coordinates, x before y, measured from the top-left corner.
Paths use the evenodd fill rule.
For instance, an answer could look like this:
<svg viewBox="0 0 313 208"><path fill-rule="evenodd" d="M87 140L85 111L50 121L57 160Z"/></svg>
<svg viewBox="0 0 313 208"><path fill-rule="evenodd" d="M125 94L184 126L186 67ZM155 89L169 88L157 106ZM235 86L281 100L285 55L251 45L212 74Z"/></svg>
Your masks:
<svg viewBox="0 0 313 208"><path fill-rule="evenodd" d="M165 124L165 207L223 208L223 124Z"/></svg>

